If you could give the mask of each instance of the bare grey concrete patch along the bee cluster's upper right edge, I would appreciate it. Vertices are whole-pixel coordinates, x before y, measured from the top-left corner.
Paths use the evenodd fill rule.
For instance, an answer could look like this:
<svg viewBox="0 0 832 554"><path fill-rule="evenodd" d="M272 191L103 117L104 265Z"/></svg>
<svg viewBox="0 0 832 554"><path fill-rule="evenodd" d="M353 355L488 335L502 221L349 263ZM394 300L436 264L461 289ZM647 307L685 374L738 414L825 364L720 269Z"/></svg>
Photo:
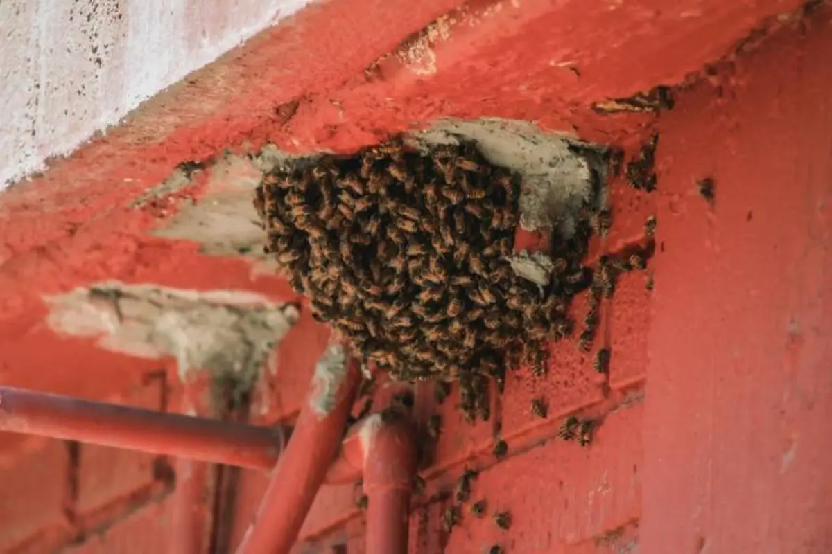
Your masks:
<svg viewBox="0 0 832 554"><path fill-rule="evenodd" d="M575 214L586 202L602 203L606 149L566 135L544 134L525 121L442 120L419 135L414 145L475 140L492 164L522 175L520 226L528 231L556 228L569 238Z"/></svg>

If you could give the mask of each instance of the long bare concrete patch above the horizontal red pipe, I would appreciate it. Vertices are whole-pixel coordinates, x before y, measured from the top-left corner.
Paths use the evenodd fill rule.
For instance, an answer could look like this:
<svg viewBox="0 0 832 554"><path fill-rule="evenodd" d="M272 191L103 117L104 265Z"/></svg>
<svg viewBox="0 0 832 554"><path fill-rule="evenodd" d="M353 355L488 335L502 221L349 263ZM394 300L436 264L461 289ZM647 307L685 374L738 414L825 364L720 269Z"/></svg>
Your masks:
<svg viewBox="0 0 832 554"><path fill-rule="evenodd" d="M250 387L274 363L275 345L299 315L294 305L251 292L121 282L77 288L46 302L48 325L58 333L96 338L108 351L143 358L171 355L182 379L190 370L209 370L240 387Z"/></svg>

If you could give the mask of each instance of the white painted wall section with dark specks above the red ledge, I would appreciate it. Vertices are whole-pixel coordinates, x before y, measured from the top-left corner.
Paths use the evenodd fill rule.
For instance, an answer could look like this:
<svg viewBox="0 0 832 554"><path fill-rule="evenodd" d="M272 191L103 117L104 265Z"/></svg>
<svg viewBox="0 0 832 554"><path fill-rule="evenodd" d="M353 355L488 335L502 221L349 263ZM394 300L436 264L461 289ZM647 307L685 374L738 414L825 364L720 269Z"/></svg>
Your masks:
<svg viewBox="0 0 832 554"><path fill-rule="evenodd" d="M0 0L0 189L307 0Z"/></svg>

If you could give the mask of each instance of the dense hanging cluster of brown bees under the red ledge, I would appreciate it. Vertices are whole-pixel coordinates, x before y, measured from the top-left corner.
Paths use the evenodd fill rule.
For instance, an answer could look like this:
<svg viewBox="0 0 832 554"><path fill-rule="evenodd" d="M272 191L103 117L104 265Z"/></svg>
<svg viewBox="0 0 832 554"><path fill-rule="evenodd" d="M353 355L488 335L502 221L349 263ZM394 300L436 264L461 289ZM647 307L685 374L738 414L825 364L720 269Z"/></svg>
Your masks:
<svg viewBox="0 0 832 554"><path fill-rule="evenodd" d="M570 334L568 302L592 278L581 265L589 218L553 252L546 287L513 272L519 179L473 141L425 153L399 136L279 164L255 208L265 251L316 320L394 379L459 380L473 421L488 419L489 378L502 390L507 365L545 371L547 341Z"/></svg>

